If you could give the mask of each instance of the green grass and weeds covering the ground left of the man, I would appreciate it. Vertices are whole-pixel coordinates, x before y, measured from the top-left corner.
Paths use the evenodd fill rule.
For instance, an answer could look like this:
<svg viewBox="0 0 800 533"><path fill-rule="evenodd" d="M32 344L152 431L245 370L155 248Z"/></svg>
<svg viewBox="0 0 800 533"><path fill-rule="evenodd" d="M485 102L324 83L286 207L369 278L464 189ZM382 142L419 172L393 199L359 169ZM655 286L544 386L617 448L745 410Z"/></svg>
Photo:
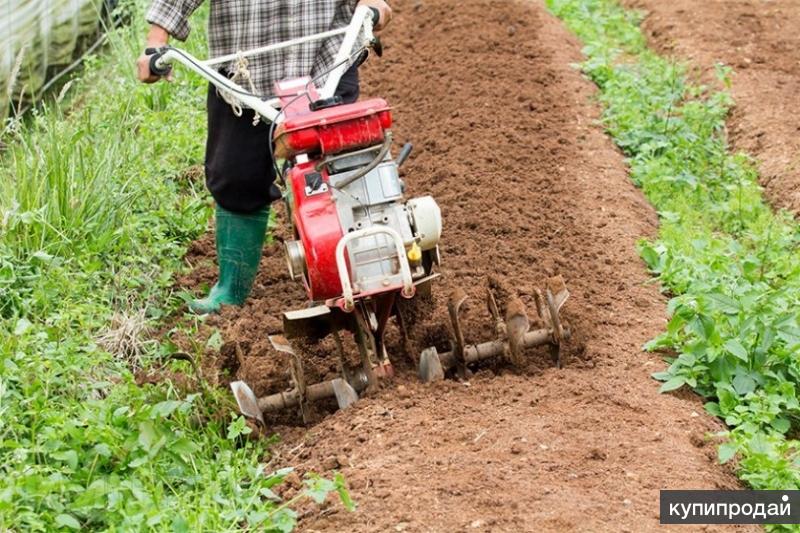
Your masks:
<svg viewBox="0 0 800 533"><path fill-rule="evenodd" d="M142 7L125 6L134 21ZM63 100L8 124L0 530L288 531L296 500L272 492L288 470L263 470L266 444L246 439L227 395L131 373L170 350L146 330L177 308L173 275L210 214L181 178L202 159L205 83L139 84L143 35L112 30ZM202 32L189 46L204 55ZM338 477L301 496L331 491L352 505Z"/></svg>

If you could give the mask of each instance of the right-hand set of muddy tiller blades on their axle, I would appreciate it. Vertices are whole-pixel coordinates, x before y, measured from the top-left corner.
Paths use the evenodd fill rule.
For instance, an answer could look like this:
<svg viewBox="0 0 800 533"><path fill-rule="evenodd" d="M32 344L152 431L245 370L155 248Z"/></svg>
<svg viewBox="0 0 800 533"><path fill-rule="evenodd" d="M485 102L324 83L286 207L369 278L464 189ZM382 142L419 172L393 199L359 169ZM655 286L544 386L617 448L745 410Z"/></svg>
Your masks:
<svg viewBox="0 0 800 533"><path fill-rule="evenodd" d="M448 302L453 337L449 352L438 353L435 347L426 348L420 354L419 377L424 382L444 379L445 372L455 369L459 378L469 375L467 365L494 357L504 357L514 365L523 362L524 350L533 346L550 346L554 363L561 367L561 344L569 340L570 330L562 324L561 307L569 298L569 291L561 276L547 280L545 293L537 289L534 293L539 317L543 327L531 330L525 305L518 298L506 306L505 319L500 317L497 301L491 290L487 291L489 313L495 322L497 339L480 344L464 344L459 312L467 299L461 289L456 289Z"/></svg>

